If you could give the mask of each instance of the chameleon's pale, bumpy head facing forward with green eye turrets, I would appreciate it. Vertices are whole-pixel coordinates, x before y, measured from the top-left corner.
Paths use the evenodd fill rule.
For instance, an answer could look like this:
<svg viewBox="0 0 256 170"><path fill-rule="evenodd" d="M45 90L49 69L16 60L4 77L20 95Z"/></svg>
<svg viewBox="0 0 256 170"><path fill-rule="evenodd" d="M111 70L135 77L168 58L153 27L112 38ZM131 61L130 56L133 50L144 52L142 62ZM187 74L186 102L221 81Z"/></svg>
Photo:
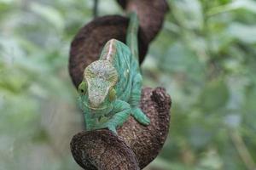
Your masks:
<svg viewBox="0 0 256 170"><path fill-rule="evenodd" d="M118 73L108 60L96 60L88 65L79 85L82 105L91 112L109 112L116 97L113 87L117 81Z"/></svg>

